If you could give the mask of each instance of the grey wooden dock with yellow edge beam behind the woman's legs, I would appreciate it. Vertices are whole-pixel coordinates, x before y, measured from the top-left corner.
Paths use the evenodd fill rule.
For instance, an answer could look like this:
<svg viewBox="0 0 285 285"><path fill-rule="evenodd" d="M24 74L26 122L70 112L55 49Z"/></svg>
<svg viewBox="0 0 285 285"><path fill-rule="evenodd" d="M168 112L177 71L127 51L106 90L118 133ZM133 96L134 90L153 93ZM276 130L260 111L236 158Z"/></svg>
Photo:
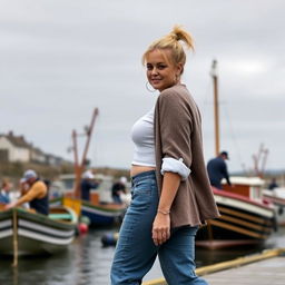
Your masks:
<svg viewBox="0 0 285 285"><path fill-rule="evenodd" d="M284 285L285 249L265 250L258 255L200 267L196 273L209 285ZM167 284L160 278L145 282L142 285Z"/></svg>

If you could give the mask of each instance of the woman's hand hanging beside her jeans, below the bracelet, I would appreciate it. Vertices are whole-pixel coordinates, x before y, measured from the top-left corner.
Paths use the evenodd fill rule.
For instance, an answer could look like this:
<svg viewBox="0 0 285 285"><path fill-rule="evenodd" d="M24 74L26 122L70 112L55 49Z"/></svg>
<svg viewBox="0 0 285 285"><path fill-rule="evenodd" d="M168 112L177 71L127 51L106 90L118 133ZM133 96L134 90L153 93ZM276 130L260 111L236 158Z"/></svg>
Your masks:
<svg viewBox="0 0 285 285"><path fill-rule="evenodd" d="M156 246L164 244L170 237L170 215L157 213L153 224L153 239Z"/></svg>

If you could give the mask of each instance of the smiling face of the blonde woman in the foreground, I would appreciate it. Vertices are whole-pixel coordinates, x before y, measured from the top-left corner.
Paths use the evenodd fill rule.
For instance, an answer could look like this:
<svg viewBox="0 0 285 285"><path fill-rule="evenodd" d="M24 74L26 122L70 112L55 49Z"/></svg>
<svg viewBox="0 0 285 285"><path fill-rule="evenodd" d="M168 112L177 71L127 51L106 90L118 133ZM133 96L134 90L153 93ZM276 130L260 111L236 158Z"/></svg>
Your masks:
<svg viewBox="0 0 285 285"><path fill-rule="evenodd" d="M176 85L181 72L181 65L174 65L170 50L155 49L146 57L147 79L160 92Z"/></svg>

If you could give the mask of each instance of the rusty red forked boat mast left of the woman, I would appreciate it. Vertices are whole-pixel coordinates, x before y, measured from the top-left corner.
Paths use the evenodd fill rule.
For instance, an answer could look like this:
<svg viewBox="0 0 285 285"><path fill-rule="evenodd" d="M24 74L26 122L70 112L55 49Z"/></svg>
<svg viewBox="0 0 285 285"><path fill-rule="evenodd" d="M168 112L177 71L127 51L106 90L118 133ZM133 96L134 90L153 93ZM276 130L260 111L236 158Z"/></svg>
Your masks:
<svg viewBox="0 0 285 285"><path fill-rule="evenodd" d="M95 120L96 120L96 117L98 116L98 114L99 114L98 108L95 108L90 126L85 128L83 135L79 135L76 130L72 130L72 144L73 144L73 155L75 155L75 176L76 176L75 186L73 186L73 196L76 198L80 197L81 175L86 167L86 161L87 161L86 157L87 157L88 148L89 148L90 140L91 140L91 134L92 134ZM78 136L87 137L81 161L79 161L79 158L78 158L78 144L77 144Z"/></svg>

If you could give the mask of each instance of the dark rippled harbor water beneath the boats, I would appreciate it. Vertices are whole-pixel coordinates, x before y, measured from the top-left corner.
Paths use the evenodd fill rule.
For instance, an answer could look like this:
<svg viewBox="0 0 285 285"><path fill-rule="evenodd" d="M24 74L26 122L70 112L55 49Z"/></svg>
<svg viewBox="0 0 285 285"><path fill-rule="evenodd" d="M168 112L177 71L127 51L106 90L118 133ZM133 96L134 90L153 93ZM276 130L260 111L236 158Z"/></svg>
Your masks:
<svg viewBox="0 0 285 285"><path fill-rule="evenodd" d="M90 229L78 236L68 250L55 256L20 257L18 267L12 258L0 256L0 285L108 285L115 247L102 247L101 237L116 228ZM285 228L279 228L263 247L239 247L223 250L196 250L197 267L262 252L285 247ZM158 262L145 281L161 277Z"/></svg>

